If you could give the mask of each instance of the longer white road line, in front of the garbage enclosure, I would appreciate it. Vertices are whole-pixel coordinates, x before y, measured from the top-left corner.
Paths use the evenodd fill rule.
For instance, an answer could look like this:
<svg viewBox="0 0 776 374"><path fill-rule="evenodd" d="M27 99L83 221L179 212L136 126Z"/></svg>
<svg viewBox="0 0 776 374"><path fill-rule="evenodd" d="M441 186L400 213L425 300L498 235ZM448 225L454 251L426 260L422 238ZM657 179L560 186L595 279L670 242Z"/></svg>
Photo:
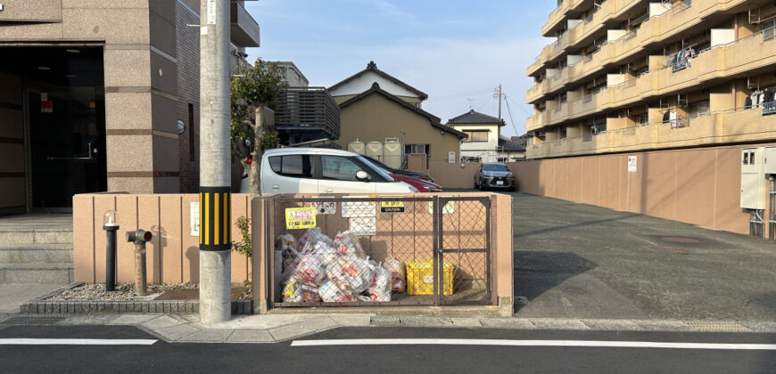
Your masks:
<svg viewBox="0 0 776 374"><path fill-rule="evenodd" d="M672 343L606 340L504 339L329 339L294 340L291 346L572 346L594 348L671 348L776 351L774 344Z"/></svg>

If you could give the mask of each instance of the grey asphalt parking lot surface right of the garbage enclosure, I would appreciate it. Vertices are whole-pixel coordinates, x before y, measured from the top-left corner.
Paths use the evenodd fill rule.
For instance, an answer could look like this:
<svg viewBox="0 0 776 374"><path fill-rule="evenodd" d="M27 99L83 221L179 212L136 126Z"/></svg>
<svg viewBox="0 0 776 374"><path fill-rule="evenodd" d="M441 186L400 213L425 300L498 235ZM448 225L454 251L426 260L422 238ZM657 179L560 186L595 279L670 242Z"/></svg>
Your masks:
<svg viewBox="0 0 776 374"><path fill-rule="evenodd" d="M772 242L512 196L516 317L776 321Z"/></svg>

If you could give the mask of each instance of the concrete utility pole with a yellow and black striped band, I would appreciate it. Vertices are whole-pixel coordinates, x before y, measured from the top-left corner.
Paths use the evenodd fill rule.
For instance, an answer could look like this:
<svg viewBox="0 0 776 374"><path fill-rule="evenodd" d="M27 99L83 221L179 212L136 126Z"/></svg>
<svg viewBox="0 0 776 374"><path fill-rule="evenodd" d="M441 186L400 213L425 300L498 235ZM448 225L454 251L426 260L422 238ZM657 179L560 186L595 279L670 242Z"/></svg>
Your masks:
<svg viewBox="0 0 776 374"><path fill-rule="evenodd" d="M232 317L229 0L200 2L200 321Z"/></svg>

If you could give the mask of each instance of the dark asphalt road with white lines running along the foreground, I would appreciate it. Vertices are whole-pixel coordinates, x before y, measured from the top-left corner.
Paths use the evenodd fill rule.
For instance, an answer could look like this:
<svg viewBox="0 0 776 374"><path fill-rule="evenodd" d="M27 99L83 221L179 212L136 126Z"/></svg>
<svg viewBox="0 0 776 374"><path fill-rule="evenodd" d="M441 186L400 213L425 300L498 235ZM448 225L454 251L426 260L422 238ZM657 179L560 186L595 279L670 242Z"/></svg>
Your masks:
<svg viewBox="0 0 776 374"><path fill-rule="evenodd" d="M155 339L133 327L10 326L9 338ZM776 343L773 334L607 333L503 329L334 329L306 341L358 338L455 338ZM3 340L0 340L2 343ZM776 371L776 351L581 346L292 346L168 344L153 346L15 346L0 344L4 372L698 372ZM296 344L299 344L297 341Z"/></svg>

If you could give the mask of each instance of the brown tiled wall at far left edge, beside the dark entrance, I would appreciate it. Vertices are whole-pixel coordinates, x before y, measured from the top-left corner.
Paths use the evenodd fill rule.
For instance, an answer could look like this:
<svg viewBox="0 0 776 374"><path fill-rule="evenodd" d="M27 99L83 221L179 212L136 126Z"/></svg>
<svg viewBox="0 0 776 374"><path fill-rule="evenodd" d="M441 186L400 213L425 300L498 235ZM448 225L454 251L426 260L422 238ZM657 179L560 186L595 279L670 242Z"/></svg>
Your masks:
<svg viewBox="0 0 776 374"><path fill-rule="evenodd" d="M0 74L0 214L26 209L21 78Z"/></svg>

